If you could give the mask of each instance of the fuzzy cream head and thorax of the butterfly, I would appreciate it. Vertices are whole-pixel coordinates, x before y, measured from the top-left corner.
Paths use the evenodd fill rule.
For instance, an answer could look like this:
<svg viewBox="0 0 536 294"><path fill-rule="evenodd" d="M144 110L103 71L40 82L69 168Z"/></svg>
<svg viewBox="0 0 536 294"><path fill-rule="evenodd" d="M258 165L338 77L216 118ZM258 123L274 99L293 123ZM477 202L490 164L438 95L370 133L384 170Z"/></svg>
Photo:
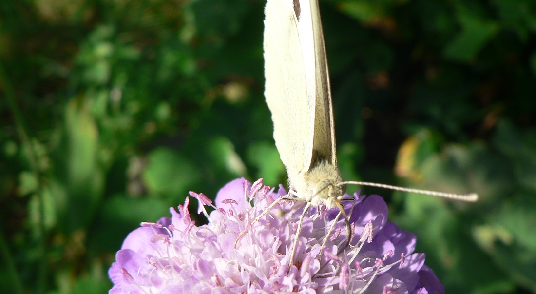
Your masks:
<svg viewBox="0 0 536 294"><path fill-rule="evenodd" d="M319 160L309 171L297 175L299 179L289 179L298 196L311 205L325 205L326 208L337 207L346 191L345 185L336 166L327 160Z"/></svg>

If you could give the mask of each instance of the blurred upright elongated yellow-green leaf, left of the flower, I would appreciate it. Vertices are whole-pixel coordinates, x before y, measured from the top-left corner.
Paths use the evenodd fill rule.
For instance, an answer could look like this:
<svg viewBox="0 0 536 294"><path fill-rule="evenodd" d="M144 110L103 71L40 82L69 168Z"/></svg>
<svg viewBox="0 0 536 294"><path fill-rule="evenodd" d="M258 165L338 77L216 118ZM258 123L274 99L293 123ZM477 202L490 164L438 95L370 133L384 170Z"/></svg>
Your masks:
<svg viewBox="0 0 536 294"><path fill-rule="evenodd" d="M65 198L53 195L59 224L70 232L88 225L102 199L105 183L98 139L87 102L71 99L65 109L62 141L54 151L55 181Z"/></svg>

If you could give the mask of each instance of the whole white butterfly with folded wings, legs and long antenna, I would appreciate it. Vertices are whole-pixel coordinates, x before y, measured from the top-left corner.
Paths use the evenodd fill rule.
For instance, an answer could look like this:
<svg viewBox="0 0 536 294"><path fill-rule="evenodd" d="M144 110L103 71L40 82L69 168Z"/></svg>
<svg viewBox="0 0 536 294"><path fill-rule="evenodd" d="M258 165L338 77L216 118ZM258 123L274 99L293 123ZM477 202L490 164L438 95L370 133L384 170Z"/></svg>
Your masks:
<svg viewBox="0 0 536 294"><path fill-rule="evenodd" d="M338 208L339 215L346 219L349 242L349 222L341 205L346 184L396 189L464 201L477 200L477 194L458 195L370 182L344 182L337 167L330 82L318 2L268 0L265 14L265 97L272 112L273 137L287 170L289 186L294 190L270 205L252 224L280 200L307 202L297 227L290 266L293 263L303 216L311 206ZM236 240L235 247L243 233L245 232Z"/></svg>

